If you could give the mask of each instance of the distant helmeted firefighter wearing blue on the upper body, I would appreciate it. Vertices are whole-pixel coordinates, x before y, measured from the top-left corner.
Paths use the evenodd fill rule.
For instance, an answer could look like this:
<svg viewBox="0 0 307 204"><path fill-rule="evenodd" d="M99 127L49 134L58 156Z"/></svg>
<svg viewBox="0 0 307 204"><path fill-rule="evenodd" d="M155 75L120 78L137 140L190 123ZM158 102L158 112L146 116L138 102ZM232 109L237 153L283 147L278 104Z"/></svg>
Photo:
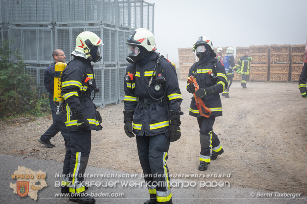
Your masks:
<svg viewBox="0 0 307 204"><path fill-rule="evenodd" d="M234 61L233 48L232 47L227 48L226 56L224 56L224 58L223 58L223 64L224 64L224 67L225 67L225 72L227 74L228 87L224 92L222 92L222 96L229 98L229 89L230 89L230 86L232 84L232 78L234 76L233 70L237 70L237 67L236 67L235 61Z"/></svg>

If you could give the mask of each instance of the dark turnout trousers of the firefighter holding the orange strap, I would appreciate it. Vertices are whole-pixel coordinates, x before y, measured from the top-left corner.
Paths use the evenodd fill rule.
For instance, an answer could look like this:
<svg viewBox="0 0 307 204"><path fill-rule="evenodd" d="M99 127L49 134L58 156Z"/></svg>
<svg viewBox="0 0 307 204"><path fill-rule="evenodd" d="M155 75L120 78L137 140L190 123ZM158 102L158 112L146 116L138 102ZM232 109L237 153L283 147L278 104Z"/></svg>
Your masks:
<svg viewBox="0 0 307 204"><path fill-rule="evenodd" d="M222 149L220 140L213 132L213 125L215 121L215 116L210 116L209 118L200 117L197 118L198 126L199 126L199 136L201 143L201 152L199 156L200 161L204 161L206 163L211 162L211 151L219 152Z"/></svg>

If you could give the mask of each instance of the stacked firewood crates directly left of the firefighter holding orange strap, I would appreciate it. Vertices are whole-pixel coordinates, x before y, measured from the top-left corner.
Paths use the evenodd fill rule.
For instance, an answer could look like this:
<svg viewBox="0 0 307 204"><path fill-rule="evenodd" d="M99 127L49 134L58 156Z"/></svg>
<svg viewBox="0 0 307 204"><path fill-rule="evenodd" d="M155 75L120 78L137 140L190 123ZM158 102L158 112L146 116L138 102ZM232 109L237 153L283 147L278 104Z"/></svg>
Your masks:
<svg viewBox="0 0 307 204"><path fill-rule="evenodd" d="M193 48L178 48L180 79L187 80L191 66L196 62Z"/></svg>

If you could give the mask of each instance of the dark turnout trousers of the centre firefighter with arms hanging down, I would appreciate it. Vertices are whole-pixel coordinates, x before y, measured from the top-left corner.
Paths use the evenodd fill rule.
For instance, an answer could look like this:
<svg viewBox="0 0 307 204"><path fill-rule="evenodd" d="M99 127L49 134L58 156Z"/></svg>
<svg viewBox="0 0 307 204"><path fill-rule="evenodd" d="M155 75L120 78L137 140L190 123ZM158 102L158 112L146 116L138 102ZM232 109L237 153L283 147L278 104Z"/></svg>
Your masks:
<svg viewBox="0 0 307 204"><path fill-rule="evenodd" d="M166 134L136 136L138 155L150 198L159 204L172 204L169 171L166 164L170 141Z"/></svg>

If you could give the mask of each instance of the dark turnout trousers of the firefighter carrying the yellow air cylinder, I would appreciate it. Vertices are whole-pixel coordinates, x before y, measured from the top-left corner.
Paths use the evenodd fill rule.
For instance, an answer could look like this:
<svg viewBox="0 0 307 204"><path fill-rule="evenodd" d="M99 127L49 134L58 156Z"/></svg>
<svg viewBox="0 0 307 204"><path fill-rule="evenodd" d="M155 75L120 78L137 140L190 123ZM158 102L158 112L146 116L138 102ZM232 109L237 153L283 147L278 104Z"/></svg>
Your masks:
<svg viewBox="0 0 307 204"><path fill-rule="evenodd" d="M91 152L91 130L69 132L68 148L63 166L62 186L69 185L69 192L85 191L84 173Z"/></svg>

